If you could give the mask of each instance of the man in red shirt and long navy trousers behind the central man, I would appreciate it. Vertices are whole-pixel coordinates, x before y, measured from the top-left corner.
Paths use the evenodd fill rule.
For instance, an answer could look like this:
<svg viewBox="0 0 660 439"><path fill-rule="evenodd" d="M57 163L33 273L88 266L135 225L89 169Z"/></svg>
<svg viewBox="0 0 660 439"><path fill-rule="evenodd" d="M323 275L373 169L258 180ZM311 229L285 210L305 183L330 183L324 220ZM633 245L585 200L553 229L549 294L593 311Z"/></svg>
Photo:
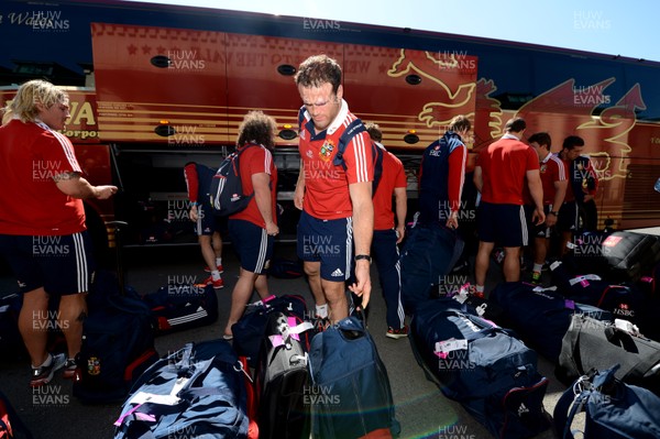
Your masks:
<svg viewBox="0 0 660 439"><path fill-rule="evenodd" d="M383 150L382 177L374 193L374 238L372 253L378 278L383 288L383 297L387 308L387 332L385 337L400 339L408 337L408 326L404 319L406 312L402 304L402 272L399 264L398 244L406 233L406 213L408 182L406 171L400 160L385 150L381 143L383 132L376 123L367 123L366 132L378 147ZM395 212L392 210L392 197L395 199Z"/></svg>

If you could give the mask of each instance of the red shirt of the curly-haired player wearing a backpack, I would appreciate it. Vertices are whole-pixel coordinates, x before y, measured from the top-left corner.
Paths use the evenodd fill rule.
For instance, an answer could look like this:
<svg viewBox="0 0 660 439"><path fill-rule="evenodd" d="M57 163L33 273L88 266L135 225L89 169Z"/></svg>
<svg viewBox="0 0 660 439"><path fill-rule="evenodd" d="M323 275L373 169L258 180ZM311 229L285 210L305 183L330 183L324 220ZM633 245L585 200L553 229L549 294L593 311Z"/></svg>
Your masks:
<svg viewBox="0 0 660 439"><path fill-rule="evenodd" d="M277 168L275 167L275 162L273 162L273 154L267 147L262 145L248 147L241 153L240 167L244 194L254 193L252 175L263 173L268 174L271 177L271 215L273 216L273 222L277 223ZM242 219L250 221L262 229L266 228L266 221L256 206L256 197L252 197L244 210L231 215L229 219Z"/></svg>

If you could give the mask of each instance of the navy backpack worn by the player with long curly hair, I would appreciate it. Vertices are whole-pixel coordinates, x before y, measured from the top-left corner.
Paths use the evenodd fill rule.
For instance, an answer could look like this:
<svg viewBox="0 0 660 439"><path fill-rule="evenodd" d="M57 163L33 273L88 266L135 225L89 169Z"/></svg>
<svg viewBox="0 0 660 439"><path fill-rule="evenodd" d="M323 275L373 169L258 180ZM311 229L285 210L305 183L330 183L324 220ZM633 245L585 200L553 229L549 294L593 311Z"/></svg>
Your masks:
<svg viewBox="0 0 660 439"><path fill-rule="evenodd" d="M243 183L241 182L241 166L239 157L241 153L249 147L258 146L248 144L229 154L220 164L218 172L211 178L209 188L209 201L213 213L219 217L229 217L244 210L254 193L243 193Z"/></svg>

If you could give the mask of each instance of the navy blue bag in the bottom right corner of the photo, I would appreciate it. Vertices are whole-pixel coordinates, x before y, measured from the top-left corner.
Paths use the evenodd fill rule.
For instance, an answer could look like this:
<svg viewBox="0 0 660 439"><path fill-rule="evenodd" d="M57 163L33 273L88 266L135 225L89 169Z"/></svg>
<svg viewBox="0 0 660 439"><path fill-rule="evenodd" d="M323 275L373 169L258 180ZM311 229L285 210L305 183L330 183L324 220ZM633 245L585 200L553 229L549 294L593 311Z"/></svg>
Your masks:
<svg viewBox="0 0 660 439"><path fill-rule="evenodd" d="M575 415L584 411L584 439L660 438L660 398L616 378L618 366L578 378L554 406L557 436L573 439Z"/></svg>

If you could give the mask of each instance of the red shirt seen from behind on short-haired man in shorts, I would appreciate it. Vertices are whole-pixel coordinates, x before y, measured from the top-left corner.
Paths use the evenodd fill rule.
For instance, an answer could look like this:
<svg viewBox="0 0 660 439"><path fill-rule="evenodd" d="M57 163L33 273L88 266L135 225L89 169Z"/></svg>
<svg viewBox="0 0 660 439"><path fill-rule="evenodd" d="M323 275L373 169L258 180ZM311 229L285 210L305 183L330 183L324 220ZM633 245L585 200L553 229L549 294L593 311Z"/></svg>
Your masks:
<svg viewBox="0 0 660 439"><path fill-rule="evenodd" d="M483 149L477 158L483 177L482 200L522 206L527 171L539 168L539 156L517 139L504 136Z"/></svg>

